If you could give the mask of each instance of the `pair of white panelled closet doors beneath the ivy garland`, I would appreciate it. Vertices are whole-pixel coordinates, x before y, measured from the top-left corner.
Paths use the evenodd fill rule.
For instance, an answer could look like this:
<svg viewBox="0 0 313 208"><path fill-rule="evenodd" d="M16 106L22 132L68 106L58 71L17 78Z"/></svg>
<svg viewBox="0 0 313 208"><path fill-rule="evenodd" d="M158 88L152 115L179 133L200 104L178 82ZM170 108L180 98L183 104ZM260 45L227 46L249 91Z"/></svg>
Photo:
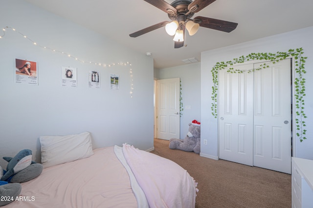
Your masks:
<svg viewBox="0 0 313 208"><path fill-rule="evenodd" d="M291 60L219 78L219 157L291 173Z"/></svg>

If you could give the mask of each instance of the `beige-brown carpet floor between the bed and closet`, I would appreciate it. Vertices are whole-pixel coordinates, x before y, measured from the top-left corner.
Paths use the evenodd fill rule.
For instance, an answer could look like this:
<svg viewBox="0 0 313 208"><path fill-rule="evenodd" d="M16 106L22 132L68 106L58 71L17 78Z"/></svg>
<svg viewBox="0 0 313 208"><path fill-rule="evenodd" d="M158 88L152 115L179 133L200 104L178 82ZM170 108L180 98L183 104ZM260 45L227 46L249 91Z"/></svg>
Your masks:
<svg viewBox="0 0 313 208"><path fill-rule="evenodd" d="M199 183L196 208L291 208L290 174L213 160L168 145L155 139L151 152L178 163Z"/></svg>

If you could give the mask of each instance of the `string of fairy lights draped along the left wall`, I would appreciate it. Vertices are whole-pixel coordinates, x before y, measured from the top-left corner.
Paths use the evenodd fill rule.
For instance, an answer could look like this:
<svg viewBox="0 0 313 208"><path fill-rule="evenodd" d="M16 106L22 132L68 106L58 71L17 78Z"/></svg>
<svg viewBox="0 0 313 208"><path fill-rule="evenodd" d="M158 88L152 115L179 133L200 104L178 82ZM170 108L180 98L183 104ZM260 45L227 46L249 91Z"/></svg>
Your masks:
<svg viewBox="0 0 313 208"><path fill-rule="evenodd" d="M0 39L3 38L5 36L5 32L6 32L6 29L11 29L12 31L14 32L17 32L19 33L22 37L28 39L30 42L33 43L33 45L37 46L37 47L40 47L40 48L43 48L43 49L47 49L47 50L50 50L52 52L58 52L60 54L63 54L63 55L66 55L67 57L70 57L70 58L74 58L75 60L81 62L81 63L90 63L90 64L94 64L94 65L98 65L98 66L101 66L101 67L111 67L111 66L115 66L115 63L111 63L111 64L101 64L101 63L95 63L95 62L92 62L92 61L83 61L77 57L73 57L67 53L64 53L62 51L58 51L58 50L55 50L55 49L52 49L52 48L49 48L49 47L45 47L45 46L41 46L39 45L38 43L36 43L35 41L33 41L32 39L28 38L27 36L23 35L21 32L17 31L16 29L12 28L12 27L8 27L6 26L5 28L2 29L3 31L3 35L0 36ZM130 74L130 95L131 97L133 97L133 90L134 90L134 84L133 84L133 69L132 69L132 64L130 62L126 62L126 63L123 63L123 62L120 62L120 63L116 63L117 65L120 65L120 66L129 66L130 67L130 71L129 71L129 74Z"/></svg>

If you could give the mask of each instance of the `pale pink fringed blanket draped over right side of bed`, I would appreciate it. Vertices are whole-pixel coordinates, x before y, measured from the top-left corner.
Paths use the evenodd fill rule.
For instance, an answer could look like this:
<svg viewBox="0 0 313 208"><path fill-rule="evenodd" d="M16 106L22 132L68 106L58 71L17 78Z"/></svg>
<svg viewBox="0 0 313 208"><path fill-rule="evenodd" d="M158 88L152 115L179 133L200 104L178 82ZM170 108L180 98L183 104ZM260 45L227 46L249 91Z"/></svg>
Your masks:
<svg viewBox="0 0 313 208"><path fill-rule="evenodd" d="M124 144L123 153L150 208L194 208L197 183L175 162Z"/></svg>

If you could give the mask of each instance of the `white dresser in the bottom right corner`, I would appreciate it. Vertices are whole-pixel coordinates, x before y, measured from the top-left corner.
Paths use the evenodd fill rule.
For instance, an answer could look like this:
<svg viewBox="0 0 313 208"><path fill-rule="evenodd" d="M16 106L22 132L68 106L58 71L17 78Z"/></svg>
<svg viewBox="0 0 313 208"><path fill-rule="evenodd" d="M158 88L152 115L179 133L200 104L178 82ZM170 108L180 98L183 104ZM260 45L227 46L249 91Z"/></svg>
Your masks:
<svg viewBox="0 0 313 208"><path fill-rule="evenodd" d="M313 208L313 160L291 161L292 208Z"/></svg>

